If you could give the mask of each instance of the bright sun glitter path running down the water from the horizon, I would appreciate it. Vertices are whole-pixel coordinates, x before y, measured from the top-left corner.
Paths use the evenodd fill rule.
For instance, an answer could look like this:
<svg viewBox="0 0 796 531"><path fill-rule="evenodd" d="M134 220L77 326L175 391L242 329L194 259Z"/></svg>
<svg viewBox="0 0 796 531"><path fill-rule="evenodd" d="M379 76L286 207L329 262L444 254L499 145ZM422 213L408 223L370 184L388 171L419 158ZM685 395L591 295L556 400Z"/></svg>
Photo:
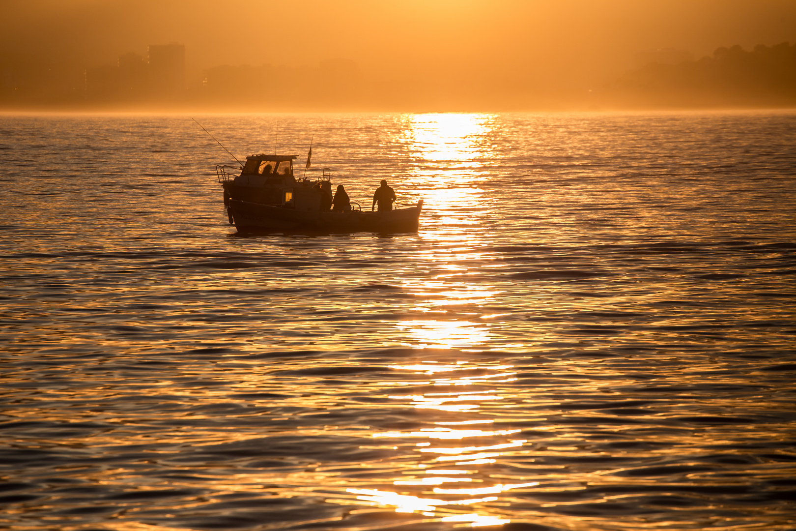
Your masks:
<svg viewBox="0 0 796 531"><path fill-rule="evenodd" d="M407 184L422 189L427 205L443 215L435 230L422 235L432 244L418 251L424 263L431 264L430 275L406 281L403 286L416 298L416 315L422 317L389 323L406 338L407 346L416 349L479 352L492 341L490 327L494 324L490 319L505 315L490 307L500 291L482 282L462 281L470 262L488 260L472 213L490 201L476 183L483 181L494 163L488 142L494 117L412 115L407 120L404 142L412 153ZM513 366L427 358L389 367L412 378L384 382L395 389L388 398L414 409L423 416L423 423L433 427L370 433L371 438L384 440L384 448L411 448L405 459L412 459L412 464L401 471L403 477L392 478L395 491L352 485L346 493L355 495L359 505L419 513L430 517L429 521L451 522L457 527L509 522L489 504L497 502L501 493L537 483L526 479L512 484L505 477L493 478L484 467L497 463L501 456L523 451L527 441L517 435L520 429L500 429L494 426L494 419L483 416L506 400L499 386L517 379ZM418 386L439 391L456 386L461 390L412 392L419 391ZM478 388L468 390L468 386ZM400 392L402 388L409 392ZM402 442L407 439L411 446ZM428 496L431 493L435 495Z"/></svg>

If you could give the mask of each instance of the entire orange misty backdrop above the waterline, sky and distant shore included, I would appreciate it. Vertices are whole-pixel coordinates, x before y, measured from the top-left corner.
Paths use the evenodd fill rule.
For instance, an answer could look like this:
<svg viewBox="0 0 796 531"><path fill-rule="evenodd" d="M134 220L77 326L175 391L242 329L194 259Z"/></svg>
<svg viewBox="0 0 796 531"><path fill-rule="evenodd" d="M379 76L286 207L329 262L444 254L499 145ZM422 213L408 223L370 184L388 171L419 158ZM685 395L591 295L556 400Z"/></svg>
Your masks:
<svg viewBox="0 0 796 531"><path fill-rule="evenodd" d="M796 107L791 0L8 0L0 22L2 110Z"/></svg>

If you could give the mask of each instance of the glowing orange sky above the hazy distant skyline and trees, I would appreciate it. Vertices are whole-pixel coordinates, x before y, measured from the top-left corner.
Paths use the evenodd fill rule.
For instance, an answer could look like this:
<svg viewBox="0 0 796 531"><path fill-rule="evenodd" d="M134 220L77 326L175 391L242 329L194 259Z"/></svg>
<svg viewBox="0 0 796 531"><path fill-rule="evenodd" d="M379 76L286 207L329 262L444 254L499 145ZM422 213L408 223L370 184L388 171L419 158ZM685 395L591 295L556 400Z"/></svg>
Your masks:
<svg viewBox="0 0 796 531"><path fill-rule="evenodd" d="M796 41L794 0L0 0L2 57L115 63L185 45L218 64L356 61L375 78L587 86L638 53Z"/></svg>

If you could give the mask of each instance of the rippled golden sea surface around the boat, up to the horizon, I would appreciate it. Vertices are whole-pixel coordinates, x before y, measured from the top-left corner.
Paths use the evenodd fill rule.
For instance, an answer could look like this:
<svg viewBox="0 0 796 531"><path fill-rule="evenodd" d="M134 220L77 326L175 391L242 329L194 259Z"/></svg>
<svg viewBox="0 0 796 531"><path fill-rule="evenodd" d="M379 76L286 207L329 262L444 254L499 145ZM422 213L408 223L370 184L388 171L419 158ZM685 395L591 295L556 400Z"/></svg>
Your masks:
<svg viewBox="0 0 796 531"><path fill-rule="evenodd" d="M188 116L0 116L2 529L796 527L796 114L196 118L419 232L236 234Z"/></svg>

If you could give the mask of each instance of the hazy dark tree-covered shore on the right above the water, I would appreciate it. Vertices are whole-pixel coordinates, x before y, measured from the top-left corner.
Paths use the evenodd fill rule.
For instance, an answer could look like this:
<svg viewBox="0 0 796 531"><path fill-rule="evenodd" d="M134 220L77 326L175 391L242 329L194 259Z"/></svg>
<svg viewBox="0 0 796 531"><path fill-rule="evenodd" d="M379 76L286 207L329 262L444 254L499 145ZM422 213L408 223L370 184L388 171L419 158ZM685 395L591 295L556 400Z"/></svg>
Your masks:
<svg viewBox="0 0 796 531"><path fill-rule="evenodd" d="M796 44L759 45L751 52L736 45L698 61L648 63L602 96L618 107L793 107Z"/></svg>

